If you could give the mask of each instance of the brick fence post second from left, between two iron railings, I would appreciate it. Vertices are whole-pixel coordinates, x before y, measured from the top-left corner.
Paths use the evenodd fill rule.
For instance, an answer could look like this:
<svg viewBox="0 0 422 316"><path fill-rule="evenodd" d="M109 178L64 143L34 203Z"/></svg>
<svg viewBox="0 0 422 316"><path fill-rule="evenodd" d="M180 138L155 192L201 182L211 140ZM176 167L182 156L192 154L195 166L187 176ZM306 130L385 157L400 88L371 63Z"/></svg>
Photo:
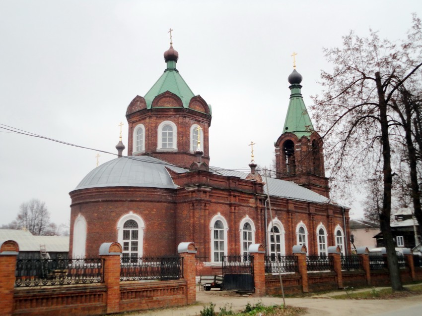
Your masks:
<svg viewBox="0 0 422 316"><path fill-rule="evenodd" d="M122 246L119 243L102 243L99 250L104 259L104 283L107 288L107 314L120 311L120 256Z"/></svg>

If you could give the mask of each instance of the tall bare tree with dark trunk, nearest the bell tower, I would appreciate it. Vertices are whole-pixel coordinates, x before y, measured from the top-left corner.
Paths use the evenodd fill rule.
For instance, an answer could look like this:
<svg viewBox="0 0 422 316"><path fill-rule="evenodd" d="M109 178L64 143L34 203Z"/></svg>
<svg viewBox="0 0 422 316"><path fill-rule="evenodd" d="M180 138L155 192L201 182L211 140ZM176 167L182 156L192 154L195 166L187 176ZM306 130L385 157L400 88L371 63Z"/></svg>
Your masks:
<svg viewBox="0 0 422 316"><path fill-rule="evenodd" d="M421 32L414 18L413 32L397 45L380 40L376 32L360 38L353 32L343 37L343 48L326 49L333 73L322 71L322 96L312 106L330 163L331 176L347 180L382 177L382 208L379 213L390 280L402 290L390 216L396 148L404 143L394 100L405 84L420 75ZM397 108L397 106L396 106ZM393 161L393 165L392 165ZM379 172L382 172L379 174Z"/></svg>

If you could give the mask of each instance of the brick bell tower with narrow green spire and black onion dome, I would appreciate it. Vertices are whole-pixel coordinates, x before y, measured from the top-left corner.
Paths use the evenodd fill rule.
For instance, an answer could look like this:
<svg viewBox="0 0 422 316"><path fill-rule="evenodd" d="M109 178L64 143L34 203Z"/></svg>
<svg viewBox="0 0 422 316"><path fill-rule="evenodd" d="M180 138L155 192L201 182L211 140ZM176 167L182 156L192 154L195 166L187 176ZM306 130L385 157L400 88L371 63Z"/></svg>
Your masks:
<svg viewBox="0 0 422 316"><path fill-rule="evenodd" d="M288 82L290 102L282 134L274 144L276 177L293 181L329 198L330 188L324 168L324 144L321 136L314 130L303 102L300 85L302 76L296 69L288 76Z"/></svg>

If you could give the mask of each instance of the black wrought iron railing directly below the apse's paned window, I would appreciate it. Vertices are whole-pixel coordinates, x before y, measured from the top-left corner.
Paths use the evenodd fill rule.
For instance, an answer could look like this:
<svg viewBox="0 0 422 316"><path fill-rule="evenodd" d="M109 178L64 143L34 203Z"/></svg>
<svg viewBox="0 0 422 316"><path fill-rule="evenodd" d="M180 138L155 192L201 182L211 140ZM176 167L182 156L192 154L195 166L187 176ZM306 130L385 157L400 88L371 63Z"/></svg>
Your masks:
<svg viewBox="0 0 422 316"><path fill-rule="evenodd" d="M183 277L181 257L140 257L120 260L120 280L175 280Z"/></svg>

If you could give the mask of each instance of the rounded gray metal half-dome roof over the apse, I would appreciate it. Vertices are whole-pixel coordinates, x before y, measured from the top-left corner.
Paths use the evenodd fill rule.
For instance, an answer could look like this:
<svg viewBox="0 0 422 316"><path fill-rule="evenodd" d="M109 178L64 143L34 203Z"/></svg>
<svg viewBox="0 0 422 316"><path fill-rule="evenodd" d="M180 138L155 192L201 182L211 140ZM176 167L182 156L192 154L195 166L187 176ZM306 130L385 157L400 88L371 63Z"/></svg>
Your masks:
<svg viewBox="0 0 422 316"><path fill-rule="evenodd" d="M165 167L178 173L188 171L152 157L121 157L93 169L80 181L75 190L98 187L177 188Z"/></svg>

